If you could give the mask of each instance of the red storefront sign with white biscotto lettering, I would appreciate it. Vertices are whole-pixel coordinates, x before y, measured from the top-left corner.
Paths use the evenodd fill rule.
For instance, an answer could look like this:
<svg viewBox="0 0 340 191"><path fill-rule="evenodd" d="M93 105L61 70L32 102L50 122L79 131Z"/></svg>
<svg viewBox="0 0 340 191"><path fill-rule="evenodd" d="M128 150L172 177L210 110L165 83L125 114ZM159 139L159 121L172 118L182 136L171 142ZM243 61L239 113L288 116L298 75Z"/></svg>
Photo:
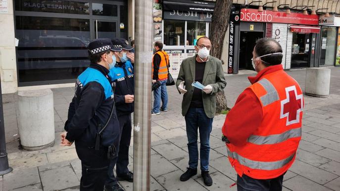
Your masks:
<svg viewBox="0 0 340 191"><path fill-rule="evenodd" d="M241 9L241 21L319 25L319 16L303 15L302 13L293 12L291 14L286 14L286 12L274 12L271 10L258 12L257 9L243 8Z"/></svg>

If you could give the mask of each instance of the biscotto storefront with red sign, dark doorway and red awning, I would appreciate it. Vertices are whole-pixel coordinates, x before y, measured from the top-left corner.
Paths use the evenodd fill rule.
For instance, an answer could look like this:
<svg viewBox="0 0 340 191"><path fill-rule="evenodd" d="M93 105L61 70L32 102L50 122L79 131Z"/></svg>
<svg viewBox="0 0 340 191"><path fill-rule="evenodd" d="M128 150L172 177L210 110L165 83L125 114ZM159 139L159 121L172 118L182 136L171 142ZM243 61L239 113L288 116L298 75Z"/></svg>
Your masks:
<svg viewBox="0 0 340 191"><path fill-rule="evenodd" d="M239 70L252 70L250 59L255 42L259 38L275 38L282 46L285 69L313 67L316 38L320 33L317 15L264 10L241 9L241 24L234 38L240 53L234 57L234 74Z"/></svg>

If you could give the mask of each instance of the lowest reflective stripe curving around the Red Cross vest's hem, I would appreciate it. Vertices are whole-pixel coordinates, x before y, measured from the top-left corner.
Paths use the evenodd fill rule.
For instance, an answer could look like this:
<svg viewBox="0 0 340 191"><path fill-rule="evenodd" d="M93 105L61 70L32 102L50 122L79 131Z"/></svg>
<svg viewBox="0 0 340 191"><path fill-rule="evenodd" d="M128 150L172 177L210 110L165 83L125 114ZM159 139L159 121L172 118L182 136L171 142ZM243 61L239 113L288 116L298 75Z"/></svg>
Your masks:
<svg viewBox="0 0 340 191"><path fill-rule="evenodd" d="M294 155L295 155L294 153L291 156L283 160L278 160L278 161L273 161L273 162L263 162L263 161L256 161L256 160L250 160L248 158L244 158L243 156L239 155L236 152L229 151L228 147L227 147L227 151L228 151L228 156L238 160L240 164L247 166L249 168L252 168L252 169L260 169L260 170L280 169L284 167L286 164L288 164L294 158Z"/></svg>

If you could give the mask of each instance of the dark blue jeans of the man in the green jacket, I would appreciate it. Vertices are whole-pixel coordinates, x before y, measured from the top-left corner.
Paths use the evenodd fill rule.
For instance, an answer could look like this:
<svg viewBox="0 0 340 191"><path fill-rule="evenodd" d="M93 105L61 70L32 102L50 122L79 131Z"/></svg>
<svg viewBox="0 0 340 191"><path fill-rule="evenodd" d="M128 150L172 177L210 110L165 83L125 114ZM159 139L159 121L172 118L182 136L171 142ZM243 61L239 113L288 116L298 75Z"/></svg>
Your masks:
<svg viewBox="0 0 340 191"><path fill-rule="evenodd" d="M197 128L199 130L200 141L200 169L207 171L209 169L209 138L212 129L213 118L205 115L203 108L189 108L185 115L186 129L188 136L189 167L197 168L198 165L198 147L197 147Z"/></svg>

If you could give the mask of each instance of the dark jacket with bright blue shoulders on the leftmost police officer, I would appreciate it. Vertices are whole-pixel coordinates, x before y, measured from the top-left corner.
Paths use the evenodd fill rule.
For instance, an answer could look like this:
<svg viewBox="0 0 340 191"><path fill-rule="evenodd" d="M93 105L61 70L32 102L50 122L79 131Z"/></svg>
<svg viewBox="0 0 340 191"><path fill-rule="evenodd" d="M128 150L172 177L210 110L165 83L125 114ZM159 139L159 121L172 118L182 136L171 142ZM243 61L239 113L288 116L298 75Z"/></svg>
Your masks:
<svg viewBox="0 0 340 191"><path fill-rule="evenodd" d="M94 147L98 125L104 126L114 104L108 70L91 64L76 81L75 95L68 109L65 123L66 139L77 146ZM119 142L119 123L116 111L103 131L102 146Z"/></svg>

